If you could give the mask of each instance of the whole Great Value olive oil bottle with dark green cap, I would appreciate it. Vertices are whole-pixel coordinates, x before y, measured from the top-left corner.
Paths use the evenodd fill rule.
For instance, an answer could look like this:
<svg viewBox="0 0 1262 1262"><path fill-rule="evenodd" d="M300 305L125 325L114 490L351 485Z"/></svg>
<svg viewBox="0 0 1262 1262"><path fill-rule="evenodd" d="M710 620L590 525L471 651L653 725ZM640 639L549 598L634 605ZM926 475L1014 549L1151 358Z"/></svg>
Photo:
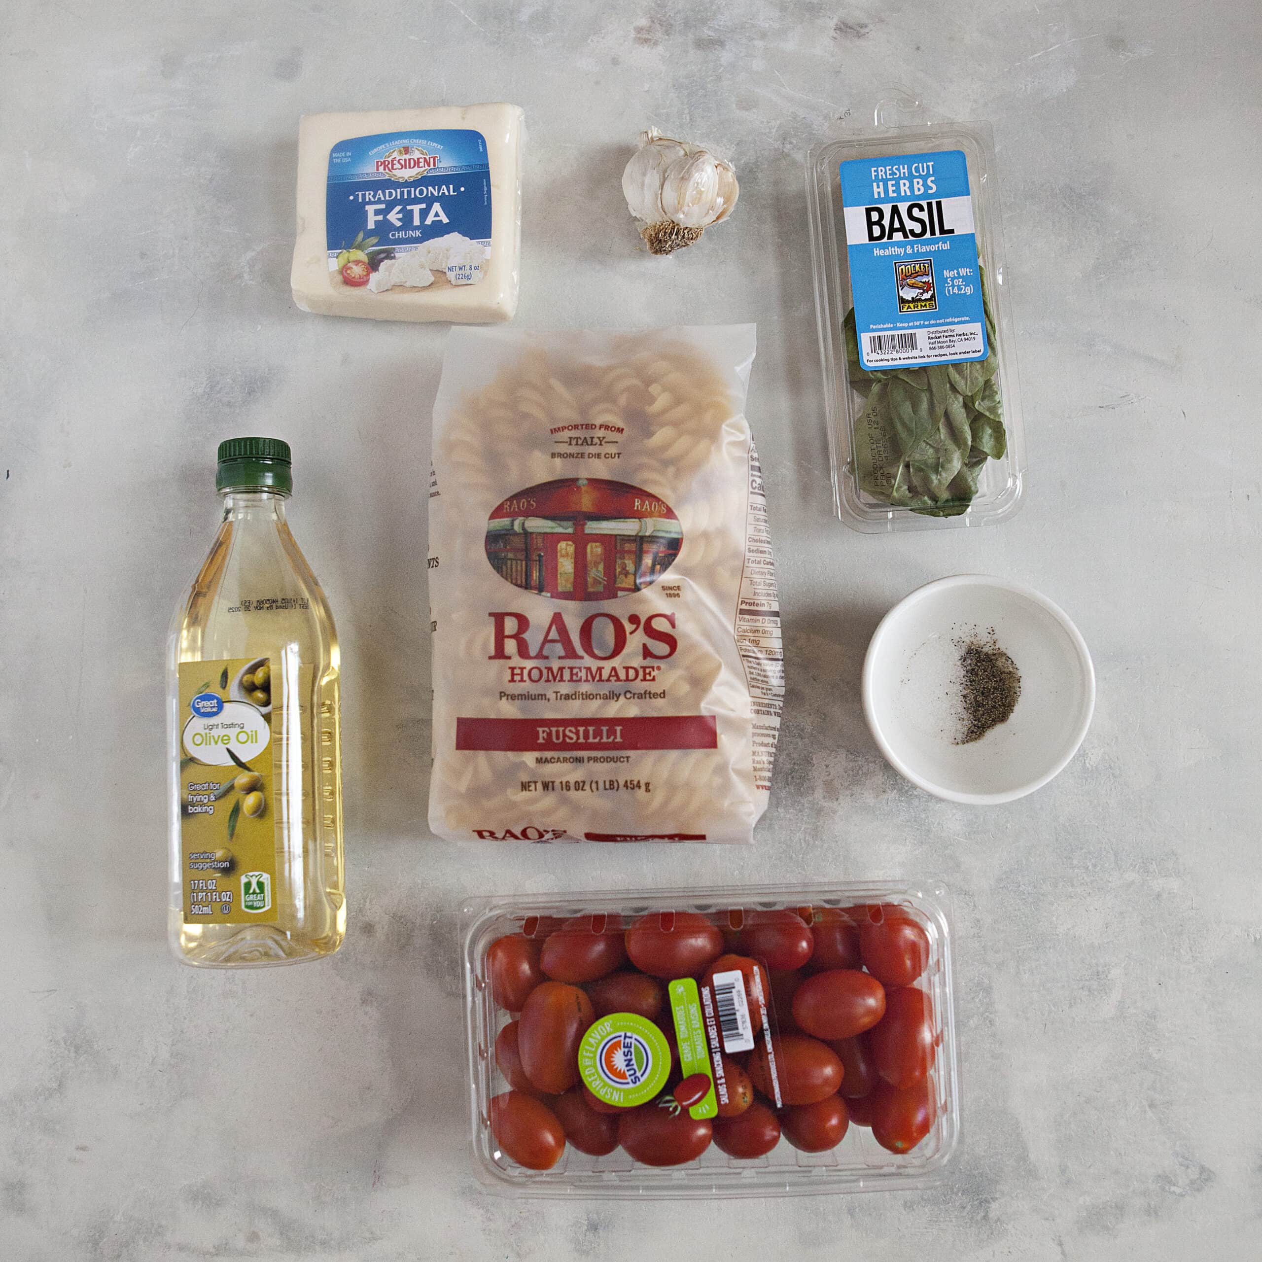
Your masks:
<svg viewBox="0 0 1262 1262"><path fill-rule="evenodd" d="M293 964L346 935L337 632L285 522L289 444L220 444L218 535L168 651L170 945Z"/></svg>

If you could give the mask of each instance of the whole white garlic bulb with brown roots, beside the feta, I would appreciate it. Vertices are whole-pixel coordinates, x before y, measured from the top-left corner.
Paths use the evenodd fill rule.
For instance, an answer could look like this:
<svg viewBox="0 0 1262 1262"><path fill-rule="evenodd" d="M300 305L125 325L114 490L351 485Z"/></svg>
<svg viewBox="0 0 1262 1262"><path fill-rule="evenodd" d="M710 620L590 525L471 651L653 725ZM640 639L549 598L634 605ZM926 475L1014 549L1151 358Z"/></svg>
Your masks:
<svg viewBox="0 0 1262 1262"><path fill-rule="evenodd" d="M726 220L740 186L731 163L650 127L640 133L640 148L622 172L622 193L649 250L670 254Z"/></svg>

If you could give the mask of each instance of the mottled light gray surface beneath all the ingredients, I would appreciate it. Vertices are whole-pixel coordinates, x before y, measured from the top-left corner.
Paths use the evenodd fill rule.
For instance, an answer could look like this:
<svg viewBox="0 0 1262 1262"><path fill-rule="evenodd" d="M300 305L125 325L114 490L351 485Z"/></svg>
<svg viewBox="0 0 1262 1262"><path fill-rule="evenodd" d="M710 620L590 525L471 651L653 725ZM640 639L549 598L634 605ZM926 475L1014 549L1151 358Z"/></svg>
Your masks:
<svg viewBox="0 0 1262 1262"><path fill-rule="evenodd" d="M1256 6L13 0L0 49L5 1258L1258 1256ZM829 517L803 154L897 83L994 124L1030 469L993 530ZM757 321L789 699L752 848L427 834L444 329L294 309L295 135L478 100L529 116L524 326ZM665 266L618 191L650 122L742 179ZM237 433L294 444L339 621L351 934L226 974L164 943L162 660ZM1060 602L1099 674L1079 757L1003 809L904 784L858 704L881 613L959 570ZM464 896L882 876L955 892L941 1186L650 1206L473 1181Z"/></svg>

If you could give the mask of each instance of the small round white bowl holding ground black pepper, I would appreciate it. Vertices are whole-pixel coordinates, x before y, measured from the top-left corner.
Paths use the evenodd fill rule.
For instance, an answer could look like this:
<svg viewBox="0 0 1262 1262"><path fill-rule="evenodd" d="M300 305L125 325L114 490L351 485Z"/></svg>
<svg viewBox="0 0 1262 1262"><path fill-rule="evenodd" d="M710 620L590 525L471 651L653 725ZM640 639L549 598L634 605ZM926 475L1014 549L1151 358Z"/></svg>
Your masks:
<svg viewBox="0 0 1262 1262"><path fill-rule="evenodd" d="M1021 673L1012 717L979 741L959 733L959 646L989 639ZM1045 596L984 574L917 588L881 620L863 660L863 713L890 765L948 801L991 805L1041 789L1078 751L1095 671L1078 628Z"/></svg>

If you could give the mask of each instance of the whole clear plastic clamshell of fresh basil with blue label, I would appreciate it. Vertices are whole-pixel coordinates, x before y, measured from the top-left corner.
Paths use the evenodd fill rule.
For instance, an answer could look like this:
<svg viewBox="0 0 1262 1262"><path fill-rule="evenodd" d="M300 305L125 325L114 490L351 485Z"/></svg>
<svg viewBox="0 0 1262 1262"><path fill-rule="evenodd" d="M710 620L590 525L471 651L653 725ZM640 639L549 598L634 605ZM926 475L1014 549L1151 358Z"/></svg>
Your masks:
<svg viewBox="0 0 1262 1262"><path fill-rule="evenodd" d="M810 153L834 506L856 530L982 526L1020 507L1023 434L994 178L989 127L978 122L852 130ZM866 199L880 209L856 207L857 187L875 189ZM959 249L972 250L976 268Z"/></svg>

